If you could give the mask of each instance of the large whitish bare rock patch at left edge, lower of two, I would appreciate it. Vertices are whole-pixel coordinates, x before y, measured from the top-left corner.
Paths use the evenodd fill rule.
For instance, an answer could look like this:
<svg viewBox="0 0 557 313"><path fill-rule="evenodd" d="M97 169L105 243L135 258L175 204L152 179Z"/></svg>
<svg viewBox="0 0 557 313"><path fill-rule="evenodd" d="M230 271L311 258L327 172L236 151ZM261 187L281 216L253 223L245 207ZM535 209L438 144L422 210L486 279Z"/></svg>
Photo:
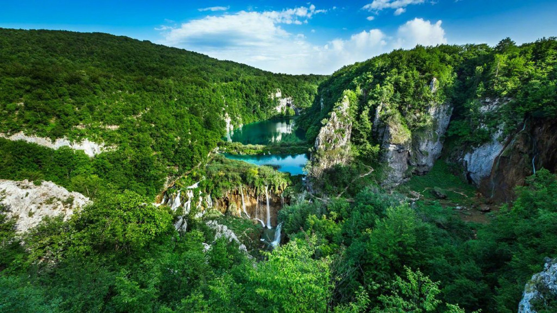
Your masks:
<svg viewBox="0 0 557 313"><path fill-rule="evenodd" d="M9 217L17 217L18 232L37 226L45 216L67 218L88 202L85 195L52 182L35 185L28 180L0 180L0 205L6 207Z"/></svg>

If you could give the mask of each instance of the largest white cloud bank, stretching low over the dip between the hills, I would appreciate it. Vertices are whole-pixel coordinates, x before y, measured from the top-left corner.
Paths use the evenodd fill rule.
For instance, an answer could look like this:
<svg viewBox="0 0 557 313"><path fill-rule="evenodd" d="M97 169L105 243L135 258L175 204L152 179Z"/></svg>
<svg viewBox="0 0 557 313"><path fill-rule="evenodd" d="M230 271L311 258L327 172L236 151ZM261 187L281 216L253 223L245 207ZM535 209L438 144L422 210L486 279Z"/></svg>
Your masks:
<svg viewBox="0 0 557 313"><path fill-rule="evenodd" d="M447 41L441 21L431 23L416 18L390 35L376 28L354 33L348 38L312 43L306 36L314 31L311 28L304 31L305 26L297 25L324 12L310 5L282 11L240 11L206 16L162 30L163 40L159 43L273 72L331 74L344 65L367 60L394 48ZM290 25L288 31L286 25Z"/></svg>

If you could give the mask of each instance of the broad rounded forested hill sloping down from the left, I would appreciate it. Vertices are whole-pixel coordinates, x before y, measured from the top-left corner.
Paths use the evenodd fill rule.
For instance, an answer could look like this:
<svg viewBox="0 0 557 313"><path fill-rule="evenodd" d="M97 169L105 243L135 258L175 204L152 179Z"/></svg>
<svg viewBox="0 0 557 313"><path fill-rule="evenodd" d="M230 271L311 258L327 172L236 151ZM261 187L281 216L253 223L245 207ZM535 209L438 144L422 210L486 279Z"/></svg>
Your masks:
<svg viewBox="0 0 557 313"><path fill-rule="evenodd" d="M207 157L224 135L226 117L239 125L277 115L270 97L277 89L297 107L309 106L321 79L105 33L4 28L0 77L0 133L113 146L89 172L149 195L160 191L164 177ZM4 159L16 154L2 142ZM10 174L3 178L61 183L29 164L19 173L14 163L3 167Z"/></svg>

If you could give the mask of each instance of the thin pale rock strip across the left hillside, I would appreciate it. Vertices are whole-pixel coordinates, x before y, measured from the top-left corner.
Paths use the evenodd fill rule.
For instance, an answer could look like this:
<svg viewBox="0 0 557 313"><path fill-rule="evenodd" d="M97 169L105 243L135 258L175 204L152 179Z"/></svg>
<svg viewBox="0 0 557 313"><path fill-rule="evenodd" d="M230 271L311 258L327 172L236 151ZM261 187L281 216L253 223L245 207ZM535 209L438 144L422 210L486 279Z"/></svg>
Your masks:
<svg viewBox="0 0 557 313"><path fill-rule="evenodd" d="M81 140L81 142L76 142L76 141L70 141L67 138L58 138L58 139L52 141L52 140L50 140L50 138L38 137L38 136L35 136L35 135L31 135L31 136L26 135L22 131L20 131L17 134L13 134L13 135L0 134L0 137L6 138L6 139L9 139L9 140L14 140L14 141L15 140L25 140L28 143L35 143L35 144L46 146L47 148L52 148L52 149L58 149L62 146L69 146L70 148L75 149L75 150L83 150L85 152L85 154L87 154L89 156L95 156L96 154L99 154L102 151L106 151L106 150L110 149L103 144L94 143L93 141L90 141L89 139L83 139L83 140Z"/></svg>

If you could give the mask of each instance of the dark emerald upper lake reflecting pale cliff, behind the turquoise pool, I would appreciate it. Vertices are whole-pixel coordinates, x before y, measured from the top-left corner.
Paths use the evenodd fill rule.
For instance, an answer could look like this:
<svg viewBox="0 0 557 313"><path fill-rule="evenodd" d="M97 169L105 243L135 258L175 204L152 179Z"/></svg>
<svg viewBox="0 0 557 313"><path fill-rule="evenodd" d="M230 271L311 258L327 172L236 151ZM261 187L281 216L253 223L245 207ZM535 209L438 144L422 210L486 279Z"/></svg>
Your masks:
<svg viewBox="0 0 557 313"><path fill-rule="evenodd" d="M295 119L272 119L244 125L227 134L226 139L242 144L268 145L273 143L296 143L305 141L303 130L296 130Z"/></svg>

